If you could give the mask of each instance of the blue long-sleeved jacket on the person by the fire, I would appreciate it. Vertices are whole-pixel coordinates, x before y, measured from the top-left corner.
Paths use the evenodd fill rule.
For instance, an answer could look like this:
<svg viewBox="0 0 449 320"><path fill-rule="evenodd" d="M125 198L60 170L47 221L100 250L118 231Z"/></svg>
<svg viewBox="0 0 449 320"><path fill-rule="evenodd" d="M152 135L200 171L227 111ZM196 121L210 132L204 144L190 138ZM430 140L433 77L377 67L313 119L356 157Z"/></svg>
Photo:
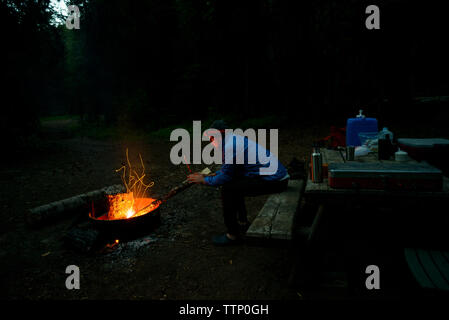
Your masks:
<svg viewBox="0 0 449 320"><path fill-rule="evenodd" d="M238 137L238 138L237 138ZM243 143L243 144L242 144ZM237 147L243 147L243 154L236 152ZM227 135L224 143L222 144L222 159L223 164L221 169L218 170L215 176L205 177L204 180L207 185L210 186L220 186L234 178L238 177L258 177L263 180L277 181L285 177L288 177L287 169L279 162L279 160L253 140L247 137L237 136L235 134ZM270 162L262 164L259 162L258 152L263 154L265 152L267 157L270 157ZM228 153L230 157L232 155L232 163L225 162L225 154ZM254 161L249 161L249 155L255 155L255 163L250 163ZM242 158L242 155L244 158ZM254 158L252 158L254 160ZM242 164L238 164L237 160L242 161ZM277 162L276 170L269 172L269 174L261 174L261 168L269 168L271 161Z"/></svg>

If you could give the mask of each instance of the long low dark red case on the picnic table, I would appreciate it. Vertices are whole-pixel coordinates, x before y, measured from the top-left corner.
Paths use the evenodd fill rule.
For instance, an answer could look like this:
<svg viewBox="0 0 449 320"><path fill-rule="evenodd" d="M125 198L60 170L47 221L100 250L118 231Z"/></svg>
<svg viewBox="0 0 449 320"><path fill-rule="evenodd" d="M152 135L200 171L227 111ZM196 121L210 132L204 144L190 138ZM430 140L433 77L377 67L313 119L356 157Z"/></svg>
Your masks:
<svg viewBox="0 0 449 320"><path fill-rule="evenodd" d="M441 170L426 163L330 163L332 188L440 191Z"/></svg>

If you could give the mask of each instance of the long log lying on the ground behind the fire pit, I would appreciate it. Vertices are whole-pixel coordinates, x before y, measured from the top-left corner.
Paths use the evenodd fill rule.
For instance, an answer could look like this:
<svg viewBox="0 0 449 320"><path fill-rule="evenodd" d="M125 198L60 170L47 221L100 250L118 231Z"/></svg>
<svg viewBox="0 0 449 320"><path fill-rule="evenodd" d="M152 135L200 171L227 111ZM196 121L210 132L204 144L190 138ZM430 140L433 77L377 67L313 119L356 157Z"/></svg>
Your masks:
<svg viewBox="0 0 449 320"><path fill-rule="evenodd" d="M77 195L68 199L55 201L28 211L27 221L31 225L39 225L54 219L66 218L73 214L89 210L92 203L106 200L106 195L125 192L122 185L113 185L99 190Z"/></svg>

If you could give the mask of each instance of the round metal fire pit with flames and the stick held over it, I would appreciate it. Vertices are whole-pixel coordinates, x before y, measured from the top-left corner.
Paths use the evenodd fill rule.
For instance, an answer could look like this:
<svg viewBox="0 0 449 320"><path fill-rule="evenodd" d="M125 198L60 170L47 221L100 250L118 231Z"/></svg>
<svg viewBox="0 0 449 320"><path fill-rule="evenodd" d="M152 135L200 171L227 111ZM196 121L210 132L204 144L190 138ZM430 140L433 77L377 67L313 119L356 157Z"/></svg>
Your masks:
<svg viewBox="0 0 449 320"><path fill-rule="evenodd" d="M126 191L105 193L100 199L92 201L88 214L90 226L87 229L74 227L66 236L67 243L77 249L91 251L95 247L104 247L102 244L112 248L121 240L147 235L160 225L161 205L192 186L185 180L160 199L148 197L146 191L154 185L154 182L144 182L145 166L140 154L139 158L140 168L132 166L128 149L126 150L127 165L124 164L116 170L122 173L121 179ZM136 169L140 169L139 172ZM210 174L210 170L205 168L201 174ZM114 242L111 245L112 240Z"/></svg>

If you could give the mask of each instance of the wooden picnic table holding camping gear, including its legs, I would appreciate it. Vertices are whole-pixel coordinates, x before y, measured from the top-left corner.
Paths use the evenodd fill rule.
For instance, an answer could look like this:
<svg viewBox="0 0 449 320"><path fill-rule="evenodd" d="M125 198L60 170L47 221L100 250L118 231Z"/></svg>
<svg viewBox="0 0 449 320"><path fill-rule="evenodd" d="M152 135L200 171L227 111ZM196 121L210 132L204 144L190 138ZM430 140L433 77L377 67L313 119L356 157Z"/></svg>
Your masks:
<svg viewBox="0 0 449 320"><path fill-rule="evenodd" d="M331 164L331 163L343 163L345 162L344 152L341 152L339 150L329 150L329 149L322 149L321 150L322 157L323 157L323 164ZM356 157L355 162L360 163L392 163L394 160L378 160L376 153L370 153L366 156ZM417 163L415 160L409 160L410 163ZM439 191L419 191L419 190L392 190L392 189L361 189L361 188L351 188L351 189L343 189L343 188L332 188L328 184L328 179L325 177L322 182L315 183L312 181L309 173L309 177L307 179L307 183L304 190L304 199L306 202L313 203L314 206L317 208L316 213L312 219L312 223L309 226L303 226L300 227L299 233L305 235L306 238L306 248L309 254L314 252L313 247L316 243L316 235L317 230L320 229L320 225L323 224L323 221L327 218L335 218L336 216L346 216L345 223L348 225L345 227L347 229L341 230L343 233L348 231L348 228L359 228L360 226L357 224L357 222L351 221L354 217L360 217L363 216L361 214L364 212L366 208L373 208L374 206L389 206L392 205L399 205L399 207L406 207L409 206L410 208L413 208L416 204L424 204L426 206L427 203L435 204L437 202L441 202L444 204L444 206L447 206L449 203L449 178L443 176L443 184L442 189ZM358 207L358 209L362 208L357 212L357 214L351 216L348 218L348 215L346 214L338 214L335 212L335 204L343 204L345 210L349 212L350 209L354 208L355 206ZM430 216L431 210L424 210L424 212L419 213L417 216L411 216L406 210L398 210L393 211L395 214L388 216L391 219L397 219L398 216L402 215L399 219L417 219L418 221L428 221L429 225L434 225L435 228L438 228L438 222L432 221ZM444 216L445 212L447 210L441 210L440 216ZM325 213L327 212L327 213ZM397 214L396 214L397 213ZM384 220L384 221L388 221ZM419 222L418 222L419 224ZM332 225L332 227L335 227L335 225ZM404 234L402 232L406 233L407 230L401 228L400 231L398 231L397 238L402 240L402 237ZM383 237L383 230L378 230L379 235ZM353 239L355 242L357 242L357 239ZM418 241L419 245L422 245L420 241ZM410 256L410 254L407 256L407 250L406 249L406 257ZM309 257L307 257L305 260L307 261ZM408 259L409 260L409 259ZM409 262L407 260L407 262ZM304 261L304 259L303 259ZM308 262L309 263L309 262ZM417 267L409 263L409 267L412 269L413 273L417 274L416 270ZM433 265L431 266L433 267ZM449 271L448 271L449 272ZM417 278L418 279L418 278ZM418 279L419 280L419 279Z"/></svg>

